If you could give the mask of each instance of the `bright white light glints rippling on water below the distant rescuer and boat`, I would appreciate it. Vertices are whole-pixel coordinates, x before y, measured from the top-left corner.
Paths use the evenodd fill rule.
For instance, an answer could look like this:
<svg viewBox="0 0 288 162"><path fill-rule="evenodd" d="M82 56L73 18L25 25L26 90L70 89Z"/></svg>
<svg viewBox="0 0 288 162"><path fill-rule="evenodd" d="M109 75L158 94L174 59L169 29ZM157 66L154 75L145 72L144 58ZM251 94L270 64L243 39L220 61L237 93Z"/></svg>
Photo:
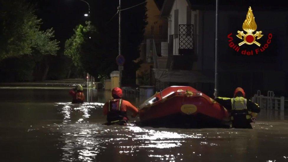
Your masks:
<svg viewBox="0 0 288 162"><path fill-rule="evenodd" d="M118 153L131 155L141 150L154 152L153 149L180 147L185 139L205 137L201 133L183 134L179 132L170 132L168 129L155 130L154 128L141 128L129 123L126 127L106 126L102 123L90 124L87 119L93 109L102 110L101 103L56 103L55 106L61 106L63 114L63 123L57 125L60 127L61 138L65 145L63 150L63 161L93 161L99 155L101 150L112 144L117 148ZM77 111L82 114L74 122L71 120L71 114ZM152 149L152 150L149 150ZM180 155L180 154L179 154ZM164 160L175 160L178 155L147 155L148 157L161 157Z"/></svg>

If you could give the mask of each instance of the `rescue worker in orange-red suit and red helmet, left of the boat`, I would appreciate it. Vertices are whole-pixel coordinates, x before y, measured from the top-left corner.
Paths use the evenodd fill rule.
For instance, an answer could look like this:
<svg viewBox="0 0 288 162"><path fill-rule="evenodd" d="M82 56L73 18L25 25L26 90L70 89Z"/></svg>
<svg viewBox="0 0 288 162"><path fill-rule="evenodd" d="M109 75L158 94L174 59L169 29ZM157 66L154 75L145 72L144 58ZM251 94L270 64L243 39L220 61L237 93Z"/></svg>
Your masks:
<svg viewBox="0 0 288 162"><path fill-rule="evenodd" d="M128 122L127 111L131 111L131 117L136 117L138 109L130 102L122 99L122 89L116 87L112 90L113 99L103 106L103 114L107 115L108 124L118 123L124 125Z"/></svg>

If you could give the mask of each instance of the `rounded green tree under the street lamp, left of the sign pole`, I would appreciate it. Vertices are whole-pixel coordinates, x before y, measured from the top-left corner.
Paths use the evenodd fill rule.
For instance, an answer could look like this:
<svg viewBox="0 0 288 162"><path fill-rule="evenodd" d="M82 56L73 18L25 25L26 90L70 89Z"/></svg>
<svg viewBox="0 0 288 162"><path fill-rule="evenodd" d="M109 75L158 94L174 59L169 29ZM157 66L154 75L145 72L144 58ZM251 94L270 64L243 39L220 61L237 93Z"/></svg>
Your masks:
<svg viewBox="0 0 288 162"><path fill-rule="evenodd" d="M73 64L94 78L107 76L116 66L111 65L115 55L110 55L109 48L103 47L102 38L93 25L77 25L74 35L65 42L64 54L72 59Z"/></svg>

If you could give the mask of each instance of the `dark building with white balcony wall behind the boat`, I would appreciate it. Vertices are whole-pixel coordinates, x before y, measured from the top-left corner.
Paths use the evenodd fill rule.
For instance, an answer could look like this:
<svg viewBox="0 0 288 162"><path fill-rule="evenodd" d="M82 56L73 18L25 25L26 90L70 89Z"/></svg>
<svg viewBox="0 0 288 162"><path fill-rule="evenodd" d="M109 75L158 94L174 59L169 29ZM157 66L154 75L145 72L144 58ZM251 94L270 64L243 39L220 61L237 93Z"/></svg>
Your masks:
<svg viewBox="0 0 288 162"><path fill-rule="evenodd" d="M219 95L232 96L233 89L239 86L247 91L248 96L255 94L258 89L287 95L288 10L283 3L220 1L217 46ZM252 7L257 24L256 31L262 31L264 35L257 40L261 46L244 44L235 51L229 46L228 35L232 33L235 45L243 41L236 35L237 31L243 31L242 24L249 6ZM178 78L185 81L183 84L188 81L189 85L211 95L214 91L215 72L215 1L166 0L161 9L161 17L168 20L169 56L166 71L173 74L176 70L182 70ZM266 44L269 33L273 35L271 44L265 51L256 54L255 50L260 50ZM244 55L244 50L252 50L254 54ZM164 81L157 75L164 72L159 71L156 70L156 78ZM188 74L196 78L185 80ZM177 82L181 84L181 80Z"/></svg>

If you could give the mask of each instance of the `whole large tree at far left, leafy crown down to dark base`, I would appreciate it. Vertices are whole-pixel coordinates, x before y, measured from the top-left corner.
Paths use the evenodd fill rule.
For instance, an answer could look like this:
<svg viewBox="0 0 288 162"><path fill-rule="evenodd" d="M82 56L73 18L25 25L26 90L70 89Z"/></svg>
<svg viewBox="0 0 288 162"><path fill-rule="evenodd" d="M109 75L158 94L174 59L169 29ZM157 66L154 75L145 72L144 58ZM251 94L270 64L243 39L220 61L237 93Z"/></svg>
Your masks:
<svg viewBox="0 0 288 162"><path fill-rule="evenodd" d="M12 81L27 81L33 77L22 77L18 73L32 75L34 72L37 80L45 80L49 70L48 57L56 55L59 42L54 39L53 28L41 30L41 24L42 20L35 15L34 6L21 0L0 0L0 74L15 73L19 77L12 78ZM26 61L19 64L19 60ZM25 68L15 67L16 70L11 69L9 72L6 61Z"/></svg>

